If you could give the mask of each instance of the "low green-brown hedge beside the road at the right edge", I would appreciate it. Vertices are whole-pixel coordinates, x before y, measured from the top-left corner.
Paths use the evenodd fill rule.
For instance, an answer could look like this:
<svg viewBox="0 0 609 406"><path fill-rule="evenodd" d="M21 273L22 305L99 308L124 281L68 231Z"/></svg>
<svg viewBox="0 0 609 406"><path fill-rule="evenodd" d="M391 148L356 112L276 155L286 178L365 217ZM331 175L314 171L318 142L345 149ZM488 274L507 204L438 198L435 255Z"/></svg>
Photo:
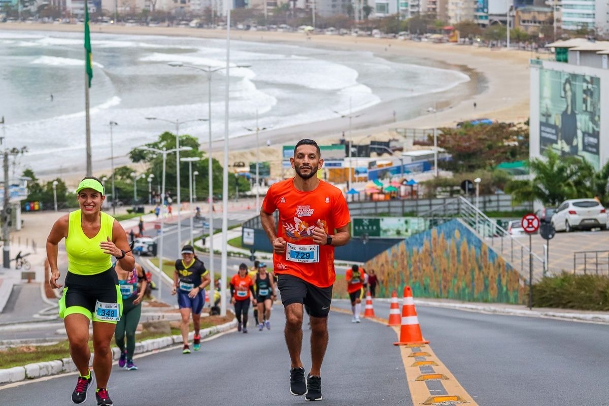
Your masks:
<svg viewBox="0 0 609 406"><path fill-rule="evenodd" d="M598 275L546 277L533 285L533 306L609 310L609 278Z"/></svg>

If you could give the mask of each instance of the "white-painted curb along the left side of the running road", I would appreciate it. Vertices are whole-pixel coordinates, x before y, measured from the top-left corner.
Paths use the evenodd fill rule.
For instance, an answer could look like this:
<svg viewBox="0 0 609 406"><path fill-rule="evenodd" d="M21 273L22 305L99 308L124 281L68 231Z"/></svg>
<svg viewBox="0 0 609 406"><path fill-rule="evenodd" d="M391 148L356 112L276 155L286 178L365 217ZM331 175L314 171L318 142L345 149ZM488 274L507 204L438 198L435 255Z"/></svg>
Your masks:
<svg viewBox="0 0 609 406"><path fill-rule="evenodd" d="M233 320L228 323L220 324L219 326L208 327L200 331L201 338L209 337L220 332L225 332L237 326L237 321ZM194 332L190 332L188 337L192 339ZM136 343L135 354L143 354L144 352L152 352L157 349L165 348L175 344L181 344L181 335L170 335L161 338L152 338ZM116 360L121 355L118 348L112 348L112 359ZM89 366L93 365L93 357L89 362ZM13 368L0 369L0 384L19 382L22 380L37 379L43 376L51 376L63 373L76 372L76 366L71 358L61 360L30 363L24 366L15 366Z"/></svg>

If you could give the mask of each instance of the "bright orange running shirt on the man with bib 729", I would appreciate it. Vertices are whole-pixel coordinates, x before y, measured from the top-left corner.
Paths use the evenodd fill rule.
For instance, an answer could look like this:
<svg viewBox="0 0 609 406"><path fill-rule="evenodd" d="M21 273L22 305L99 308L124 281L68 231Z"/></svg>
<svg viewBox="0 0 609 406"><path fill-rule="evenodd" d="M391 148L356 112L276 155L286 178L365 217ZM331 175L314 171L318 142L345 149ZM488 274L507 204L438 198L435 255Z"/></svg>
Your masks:
<svg viewBox="0 0 609 406"><path fill-rule="evenodd" d="M288 243L284 254L273 253L273 271L277 275L296 276L317 287L333 285L334 247L314 244L312 233L317 220L322 220L326 234L330 235L351 222L342 192L323 180L313 191L301 192L291 178L270 186L262 209L267 214L279 210L276 236Z"/></svg>

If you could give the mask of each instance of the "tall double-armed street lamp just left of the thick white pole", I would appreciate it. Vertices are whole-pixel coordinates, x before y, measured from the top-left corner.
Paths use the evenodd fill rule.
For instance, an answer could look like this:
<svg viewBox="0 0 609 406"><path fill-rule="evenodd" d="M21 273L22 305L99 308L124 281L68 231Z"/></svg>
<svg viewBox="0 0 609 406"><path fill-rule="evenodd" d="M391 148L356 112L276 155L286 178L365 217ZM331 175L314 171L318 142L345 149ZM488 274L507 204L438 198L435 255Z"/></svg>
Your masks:
<svg viewBox="0 0 609 406"><path fill-rule="evenodd" d="M265 0L266 1L266 0ZM228 48L227 48L228 50ZM227 51L228 52L228 51ZM211 286L211 291L213 292L215 289L214 284L214 181L213 181L213 165L211 159L211 78L212 74L217 71L221 71L222 69L228 69L229 63L227 61L227 66L220 66L217 68L213 68L212 66L206 66L205 68L200 68L199 66L192 65L184 65L181 62L170 62L169 66L173 66L174 68L191 68L196 69L197 71L205 72L207 76L207 105L208 105L208 127L209 127L209 150L208 150L208 169L207 169L207 181L208 181L208 214L209 214L209 286ZM236 68L249 68L250 65L236 65ZM228 83L228 71L227 71L227 83ZM224 281L226 283L226 281ZM222 296L225 295L225 290L222 290ZM224 300L224 299L223 299ZM222 302L222 309L225 309L226 303ZM223 310L223 315L226 315L226 310Z"/></svg>

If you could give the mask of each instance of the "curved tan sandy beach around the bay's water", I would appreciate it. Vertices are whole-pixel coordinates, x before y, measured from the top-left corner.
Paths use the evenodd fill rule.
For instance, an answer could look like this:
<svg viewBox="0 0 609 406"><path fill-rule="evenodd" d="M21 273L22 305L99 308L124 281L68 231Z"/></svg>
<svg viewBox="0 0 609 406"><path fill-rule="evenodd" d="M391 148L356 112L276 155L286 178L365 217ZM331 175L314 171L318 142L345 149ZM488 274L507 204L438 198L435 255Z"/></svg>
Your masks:
<svg viewBox="0 0 609 406"><path fill-rule="evenodd" d="M80 32L82 25L70 24L0 24L0 30L40 30L40 31L63 31ZM91 26L94 33L117 33L129 35L167 35L180 37L202 37L202 38L226 38L224 30L203 30L181 27L124 27L124 26ZM241 41L259 41L267 43L289 43L309 47L327 47L342 50L359 50L374 52L380 57L409 56L429 61L431 65L438 63L454 66L455 69L470 73L476 80L471 86L477 86L471 91L471 97L459 100L448 100L437 106L437 113L428 113L428 99L421 102L420 115L406 120L392 122L390 113L375 111L378 122L384 124L367 125L361 127L357 119L353 120L353 142L369 142L371 139L387 140L401 137L395 128L432 128L434 122L438 127L452 126L459 121L487 117L496 121L523 122L529 117L529 60L537 55L531 52L489 49L459 44L434 44L428 42L401 41L387 38L351 37L338 35L312 35L303 33L285 32L255 32L255 31L231 31L231 39ZM547 55L547 54L546 54ZM544 55L545 56L545 55ZM440 98L441 96L438 96ZM422 98L423 99L423 98ZM474 108L474 102L476 107ZM434 117L435 115L435 117ZM370 117L368 117L368 120ZM295 140L303 138L311 133L311 138L317 139L320 144L337 142L341 136L336 130L330 128L324 122L295 126L287 129L292 138L286 138L286 129L282 131L267 131L261 134L261 139L270 139L271 147L261 147L260 155L269 161L272 167L272 177L281 175L281 145L293 145ZM334 126L336 127L336 125ZM262 141L261 141L262 144ZM408 147L412 140L404 139ZM202 145L205 147L205 145ZM248 135L239 138L238 142L231 142L229 163L244 161L245 163L255 161L255 136ZM214 158L223 161L222 142L214 142ZM109 161L109 159L108 159ZM127 161L118 164L126 164ZM100 165L94 164L94 168ZM103 166L103 165L101 165ZM94 170L97 175L108 174L104 169ZM77 183L82 177L82 171L78 173L62 173L63 178L70 185Z"/></svg>

